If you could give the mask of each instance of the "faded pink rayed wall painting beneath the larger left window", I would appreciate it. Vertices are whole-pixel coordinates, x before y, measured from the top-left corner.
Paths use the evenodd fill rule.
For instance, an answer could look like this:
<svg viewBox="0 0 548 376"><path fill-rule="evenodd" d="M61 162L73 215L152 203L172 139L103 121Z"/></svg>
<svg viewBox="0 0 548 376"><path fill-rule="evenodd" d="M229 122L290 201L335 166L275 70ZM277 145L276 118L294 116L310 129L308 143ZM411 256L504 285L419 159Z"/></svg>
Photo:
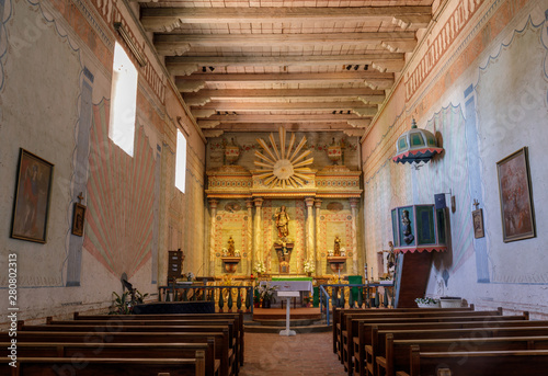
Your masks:
<svg viewBox="0 0 548 376"><path fill-rule="evenodd" d="M84 248L112 274L130 278L151 257L153 149L137 127L135 156L109 139L110 102L93 106Z"/></svg>

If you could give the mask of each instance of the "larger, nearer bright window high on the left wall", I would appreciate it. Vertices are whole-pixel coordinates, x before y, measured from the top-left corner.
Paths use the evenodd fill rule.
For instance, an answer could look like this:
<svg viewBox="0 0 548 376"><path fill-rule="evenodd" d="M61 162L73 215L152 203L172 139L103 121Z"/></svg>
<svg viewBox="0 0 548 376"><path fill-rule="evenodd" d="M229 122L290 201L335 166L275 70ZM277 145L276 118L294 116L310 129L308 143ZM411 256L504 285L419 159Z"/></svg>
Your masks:
<svg viewBox="0 0 548 376"><path fill-rule="evenodd" d="M109 137L132 157L134 156L137 75L137 69L129 56L116 42L112 68Z"/></svg>

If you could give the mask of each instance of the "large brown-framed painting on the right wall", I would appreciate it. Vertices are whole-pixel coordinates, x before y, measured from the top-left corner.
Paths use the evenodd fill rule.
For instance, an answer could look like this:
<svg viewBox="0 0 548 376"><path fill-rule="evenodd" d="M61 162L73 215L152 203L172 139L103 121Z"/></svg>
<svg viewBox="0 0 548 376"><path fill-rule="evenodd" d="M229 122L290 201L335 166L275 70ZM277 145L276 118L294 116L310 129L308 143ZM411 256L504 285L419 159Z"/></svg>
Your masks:
<svg viewBox="0 0 548 376"><path fill-rule="evenodd" d="M535 212L527 147L496 162L504 242L534 238Z"/></svg>

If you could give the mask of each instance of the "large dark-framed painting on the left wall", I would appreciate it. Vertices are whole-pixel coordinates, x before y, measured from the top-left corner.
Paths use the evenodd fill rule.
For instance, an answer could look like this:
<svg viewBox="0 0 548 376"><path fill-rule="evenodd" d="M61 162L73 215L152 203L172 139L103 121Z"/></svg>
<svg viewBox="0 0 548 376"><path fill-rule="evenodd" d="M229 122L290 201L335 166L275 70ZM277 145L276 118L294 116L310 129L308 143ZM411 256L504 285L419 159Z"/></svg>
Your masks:
<svg viewBox="0 0 548 376"><path fill-rule="evenodd" d="M45 243L54 164L20 150L11 237Z"/></svg>

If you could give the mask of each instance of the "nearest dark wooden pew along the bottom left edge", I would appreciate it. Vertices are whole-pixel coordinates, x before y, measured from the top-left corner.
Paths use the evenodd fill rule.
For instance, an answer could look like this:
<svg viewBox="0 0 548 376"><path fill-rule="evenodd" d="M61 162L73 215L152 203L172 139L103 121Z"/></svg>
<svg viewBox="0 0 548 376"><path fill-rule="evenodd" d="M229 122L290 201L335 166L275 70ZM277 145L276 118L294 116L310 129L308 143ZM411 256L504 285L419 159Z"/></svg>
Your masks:
<svg viewBox="0 0 548 376"><path fill-rule="evenodd" d="M9 357L0 364L1 375L12 376L191 376L205 375L204 353L193 358L116 358L116 357L18 357L16 367Z"/></svg>

